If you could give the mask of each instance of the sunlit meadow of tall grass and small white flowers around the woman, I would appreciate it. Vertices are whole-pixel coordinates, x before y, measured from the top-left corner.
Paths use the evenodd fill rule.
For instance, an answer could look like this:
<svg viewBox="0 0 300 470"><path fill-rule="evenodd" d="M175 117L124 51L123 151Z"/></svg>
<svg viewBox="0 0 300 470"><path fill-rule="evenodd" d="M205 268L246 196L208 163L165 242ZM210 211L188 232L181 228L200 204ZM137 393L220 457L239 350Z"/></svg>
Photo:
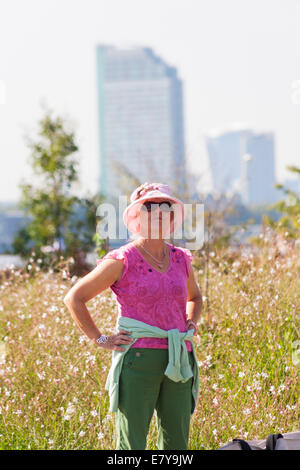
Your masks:
<svg viewBox="0 0 300 470"><path fill-rule="evenodd" d="M299 253L213 257L209 315L204 295L194 337L200 392L189 449L216 449L235 437L263 439L299 430ZM198 261L198 264L197 264ZM35 269L35 264L31 263ZM12 272L0 285L0 449L115 449L114 413L104 390L111 351L82 334L63 303L63 272ZM117 305L108 289L87 307L112 334ZM296 358L296 359L295 359ZM156 449L153 416L147 449Z"/></svg>

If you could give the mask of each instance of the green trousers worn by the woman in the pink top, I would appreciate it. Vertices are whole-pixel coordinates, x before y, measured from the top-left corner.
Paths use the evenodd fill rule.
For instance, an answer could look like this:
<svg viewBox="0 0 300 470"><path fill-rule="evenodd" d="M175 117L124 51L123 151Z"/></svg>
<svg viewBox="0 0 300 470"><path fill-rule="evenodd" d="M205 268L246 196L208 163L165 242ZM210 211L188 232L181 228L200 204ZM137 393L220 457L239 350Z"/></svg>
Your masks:
<svg viewBox="0 0 300 470"><path fill-rule="evenodd" d="M188 352L193 367L193 352ZM159 450L187 449L192 381L174 382L165 374L168 349L132 348L124 356L115 413L116 450L144 450L155 411Z"/></svg>

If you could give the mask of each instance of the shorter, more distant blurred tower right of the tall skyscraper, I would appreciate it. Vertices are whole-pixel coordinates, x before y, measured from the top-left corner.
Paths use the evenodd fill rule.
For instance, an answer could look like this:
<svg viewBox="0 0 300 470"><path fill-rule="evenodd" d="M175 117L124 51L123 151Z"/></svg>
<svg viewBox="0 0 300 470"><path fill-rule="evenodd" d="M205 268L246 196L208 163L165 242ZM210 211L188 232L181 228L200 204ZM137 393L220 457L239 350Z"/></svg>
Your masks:
<svg viewBox="0 0 300 470"><path fill-rule="evenodd" d="M245 204L275 202L273 134L233 127L214 130L205 137L213 193L239 194Z"/></svg>

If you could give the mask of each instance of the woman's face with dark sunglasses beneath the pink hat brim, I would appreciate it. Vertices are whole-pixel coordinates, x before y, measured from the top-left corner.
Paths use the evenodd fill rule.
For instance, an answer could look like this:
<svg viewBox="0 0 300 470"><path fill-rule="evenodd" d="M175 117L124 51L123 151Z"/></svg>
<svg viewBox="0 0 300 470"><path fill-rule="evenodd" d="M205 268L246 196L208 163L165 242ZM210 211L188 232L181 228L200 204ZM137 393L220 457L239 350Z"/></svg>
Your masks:
<svg viewBox="0 0 300 470"><path fill-rule="evenodd" d="M146 200L144 201L146 202ZM151 199L151 202L166 202L161 198ZM172 201L170 201L172 204ZM167 204L166 204L167 206ZM173 231L174 211L164 212L158 204L152 206L151 211L139 209L140 217L140 235L144 238L168 238Z"/></svg>

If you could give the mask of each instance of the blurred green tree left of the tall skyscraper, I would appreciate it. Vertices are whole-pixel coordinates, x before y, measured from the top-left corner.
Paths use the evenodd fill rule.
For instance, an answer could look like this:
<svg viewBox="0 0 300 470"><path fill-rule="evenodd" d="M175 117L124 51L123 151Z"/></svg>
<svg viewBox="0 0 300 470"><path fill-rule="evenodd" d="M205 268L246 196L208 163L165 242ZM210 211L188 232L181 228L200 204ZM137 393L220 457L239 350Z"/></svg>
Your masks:
<svg viewBox="0 0 300 470"><path fill-rule="evenodd" d="M76 259L93 249L95 242L101 250L95 228L97 205L103 198L97 194L80 199L71 193L78 182L74 132L67 130L62 118L52 117L46 110L39 121L38 137L28 139L28 146L36 184L20 184L19 207L25 212L26 224L14 239L14 253L26 259L34 251L43 260L53 261L62 255Z"/></svg>

